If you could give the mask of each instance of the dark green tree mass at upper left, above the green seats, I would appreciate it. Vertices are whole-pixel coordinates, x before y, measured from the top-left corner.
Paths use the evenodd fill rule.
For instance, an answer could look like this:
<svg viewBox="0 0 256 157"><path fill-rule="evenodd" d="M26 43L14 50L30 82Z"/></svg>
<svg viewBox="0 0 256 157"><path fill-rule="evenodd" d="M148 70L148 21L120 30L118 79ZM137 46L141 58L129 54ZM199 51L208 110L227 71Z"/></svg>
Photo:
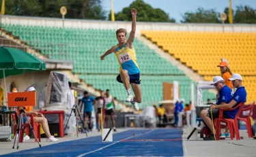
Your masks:
<svg viewBox="0 0 256 157"><path fill-rule="evenodd" d="M68 10L66 18L106 19L101 0L8 0L5 14L57 18L63 5Z"/></svg>

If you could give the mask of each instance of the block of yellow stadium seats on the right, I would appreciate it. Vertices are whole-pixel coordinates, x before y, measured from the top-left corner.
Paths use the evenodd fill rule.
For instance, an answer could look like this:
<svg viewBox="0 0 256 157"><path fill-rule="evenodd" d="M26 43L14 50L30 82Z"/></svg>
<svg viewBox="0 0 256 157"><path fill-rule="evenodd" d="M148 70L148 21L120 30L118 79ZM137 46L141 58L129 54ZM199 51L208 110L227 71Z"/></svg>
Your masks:
<svg viewBox="0 0 256 157"><path fill-rule="evenodd" d="M216 66L221 58L229 60L231 72L241 74L247 91L247 102L256 98L256 33L141 31L147 39L162 46L176 59L192 68L205 81L220 75Z"/></svg>

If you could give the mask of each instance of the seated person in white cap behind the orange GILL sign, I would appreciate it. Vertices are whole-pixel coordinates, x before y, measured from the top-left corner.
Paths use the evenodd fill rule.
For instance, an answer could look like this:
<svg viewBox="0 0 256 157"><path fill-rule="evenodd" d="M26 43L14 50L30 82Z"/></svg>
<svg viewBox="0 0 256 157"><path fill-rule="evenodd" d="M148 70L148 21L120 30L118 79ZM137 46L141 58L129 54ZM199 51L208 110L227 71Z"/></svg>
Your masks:
<svg viewBox="0 0 256 157"><path fill-rule="evenodd" d="M29 92L36 92L34 87L29 87L29 89L27 89L27 91ZM55 137L51 136L50 130L49 130L49 126L48 126L48 122L47 119L44 117L44 115L42 115L41 113L35 112L33 111L33 106L25 106L24 109L25 113L27 115L35 115L35 117L33 117L33 122L38 122L42 124L42 129L44 130L44 133L46 134L46 141L47 142L57 142L59 141L58 139L55 139ZM25 117L25 119L23 118L23 122L24 123L29 123L30 122L30 117Z"/></svg>

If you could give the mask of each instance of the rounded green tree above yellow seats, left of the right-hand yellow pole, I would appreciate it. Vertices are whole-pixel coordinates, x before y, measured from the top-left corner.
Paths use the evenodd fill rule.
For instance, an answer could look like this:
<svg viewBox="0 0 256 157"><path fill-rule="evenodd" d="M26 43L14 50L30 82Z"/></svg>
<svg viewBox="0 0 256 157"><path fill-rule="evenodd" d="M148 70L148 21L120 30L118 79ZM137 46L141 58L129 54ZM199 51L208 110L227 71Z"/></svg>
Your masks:
<svg viewBox="0 0 256 157"><path fill-rule="evenodd" d="M198 8L195 12L186 12L181 23L221 23L220 14L215 10Z"/></svg>

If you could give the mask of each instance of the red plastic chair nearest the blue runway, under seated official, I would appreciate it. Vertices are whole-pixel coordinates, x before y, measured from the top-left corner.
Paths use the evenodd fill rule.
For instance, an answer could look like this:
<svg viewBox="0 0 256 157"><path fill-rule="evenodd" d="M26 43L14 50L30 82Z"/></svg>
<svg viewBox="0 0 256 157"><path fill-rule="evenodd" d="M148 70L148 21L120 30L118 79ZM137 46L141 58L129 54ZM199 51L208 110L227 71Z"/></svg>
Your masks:
<svg viewBox="0 0 256 157"><path fill-rule="evenodd" d="M216 140L220 139L221 133L221 122L225 122L227 126L229 126L230 137L233 139L234 134L236 134L236 139L240 140L239 129L238 129L238 116L242 111L242 107L244 103L238 104L238 106L231 108L231 109L220 109L220 113L218 118L214 119L214 124L216 126ZM223 118L223 111L233 111L239 107L238 113L236 113L236 117L234 119L226 119Z"/></svg>

